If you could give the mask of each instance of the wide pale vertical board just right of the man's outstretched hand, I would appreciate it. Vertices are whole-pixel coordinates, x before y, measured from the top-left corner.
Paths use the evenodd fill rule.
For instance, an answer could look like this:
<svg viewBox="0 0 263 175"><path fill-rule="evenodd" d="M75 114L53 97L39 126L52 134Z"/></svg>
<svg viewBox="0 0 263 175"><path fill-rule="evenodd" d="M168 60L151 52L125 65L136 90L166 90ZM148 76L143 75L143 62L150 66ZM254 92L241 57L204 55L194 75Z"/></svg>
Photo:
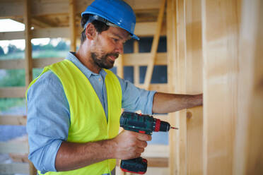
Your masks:
<svg viewBox="0 0 263 175"><path fill-rule="evenodd" d="M239 0L201 1L204 174L232 174L238 92Z"/></svg>

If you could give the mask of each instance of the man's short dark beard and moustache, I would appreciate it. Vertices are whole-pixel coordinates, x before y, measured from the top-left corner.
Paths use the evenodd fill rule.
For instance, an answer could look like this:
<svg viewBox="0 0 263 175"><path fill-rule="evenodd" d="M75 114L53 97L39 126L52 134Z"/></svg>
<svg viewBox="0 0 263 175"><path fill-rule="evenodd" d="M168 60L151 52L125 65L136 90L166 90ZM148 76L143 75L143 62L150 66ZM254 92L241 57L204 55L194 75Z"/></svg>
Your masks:
<svg viewBox="0 0 263 175"><path fill-rule="evenodd" d="M115 61L112 61L108 58L108 56L115 56L115 59L119 56L117 53L103 54L102 56L98 56L95 52L91 53L91 58L96 66L99 68L113 68Z"/></svg>

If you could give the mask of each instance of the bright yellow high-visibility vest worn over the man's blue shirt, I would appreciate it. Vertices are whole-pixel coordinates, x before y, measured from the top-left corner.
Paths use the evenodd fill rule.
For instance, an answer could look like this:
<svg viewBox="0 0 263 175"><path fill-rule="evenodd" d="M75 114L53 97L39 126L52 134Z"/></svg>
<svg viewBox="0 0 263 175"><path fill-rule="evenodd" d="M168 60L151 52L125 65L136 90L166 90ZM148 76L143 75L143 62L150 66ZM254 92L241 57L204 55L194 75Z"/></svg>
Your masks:
<svg viewBox="0 0 263 175"><path fill-rule="evenodd" d="M98 95L88 78L78 67L65 59L57 64L45 67L42 73L49 70L61 81L69 102L71 121L67 141L87 143L115 138L119 133L119 117L122 108L122 89L115 74L105 69L107 73L105 77L108 105L107 120ZM28 89L40 76L30 83ZM106 159L81 169L47 172L46 174L109 174L115 165L116 159ZM40 174L40 171L38 173Z"/></svg>

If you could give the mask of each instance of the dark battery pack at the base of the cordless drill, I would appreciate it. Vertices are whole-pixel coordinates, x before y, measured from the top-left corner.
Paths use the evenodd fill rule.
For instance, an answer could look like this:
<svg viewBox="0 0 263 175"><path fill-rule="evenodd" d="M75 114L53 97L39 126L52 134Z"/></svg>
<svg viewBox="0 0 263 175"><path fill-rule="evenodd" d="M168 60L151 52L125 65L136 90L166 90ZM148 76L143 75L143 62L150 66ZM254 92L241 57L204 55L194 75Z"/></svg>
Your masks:
<svg viewBox="0 0 263 175"><path fill-rule="evenodd" d="M122 171L129 173L145 174L147 171L147 160L142 157L125 159L121 161L120 168Z"/></svg>

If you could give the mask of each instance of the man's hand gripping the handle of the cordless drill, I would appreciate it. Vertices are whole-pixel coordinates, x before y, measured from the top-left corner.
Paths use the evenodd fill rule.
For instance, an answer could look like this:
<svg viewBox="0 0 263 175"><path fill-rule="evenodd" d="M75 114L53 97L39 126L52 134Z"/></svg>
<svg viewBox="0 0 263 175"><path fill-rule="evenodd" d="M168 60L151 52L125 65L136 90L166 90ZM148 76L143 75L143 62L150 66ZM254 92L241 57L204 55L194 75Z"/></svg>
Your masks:
<svg viewBox="0 0 263 175"><path fill-rule="evenodd" d="M147 146L146 141L151 141L151 135L124 130L112 141L116 145L115 158L133 159L141 156Z"/></svg>

